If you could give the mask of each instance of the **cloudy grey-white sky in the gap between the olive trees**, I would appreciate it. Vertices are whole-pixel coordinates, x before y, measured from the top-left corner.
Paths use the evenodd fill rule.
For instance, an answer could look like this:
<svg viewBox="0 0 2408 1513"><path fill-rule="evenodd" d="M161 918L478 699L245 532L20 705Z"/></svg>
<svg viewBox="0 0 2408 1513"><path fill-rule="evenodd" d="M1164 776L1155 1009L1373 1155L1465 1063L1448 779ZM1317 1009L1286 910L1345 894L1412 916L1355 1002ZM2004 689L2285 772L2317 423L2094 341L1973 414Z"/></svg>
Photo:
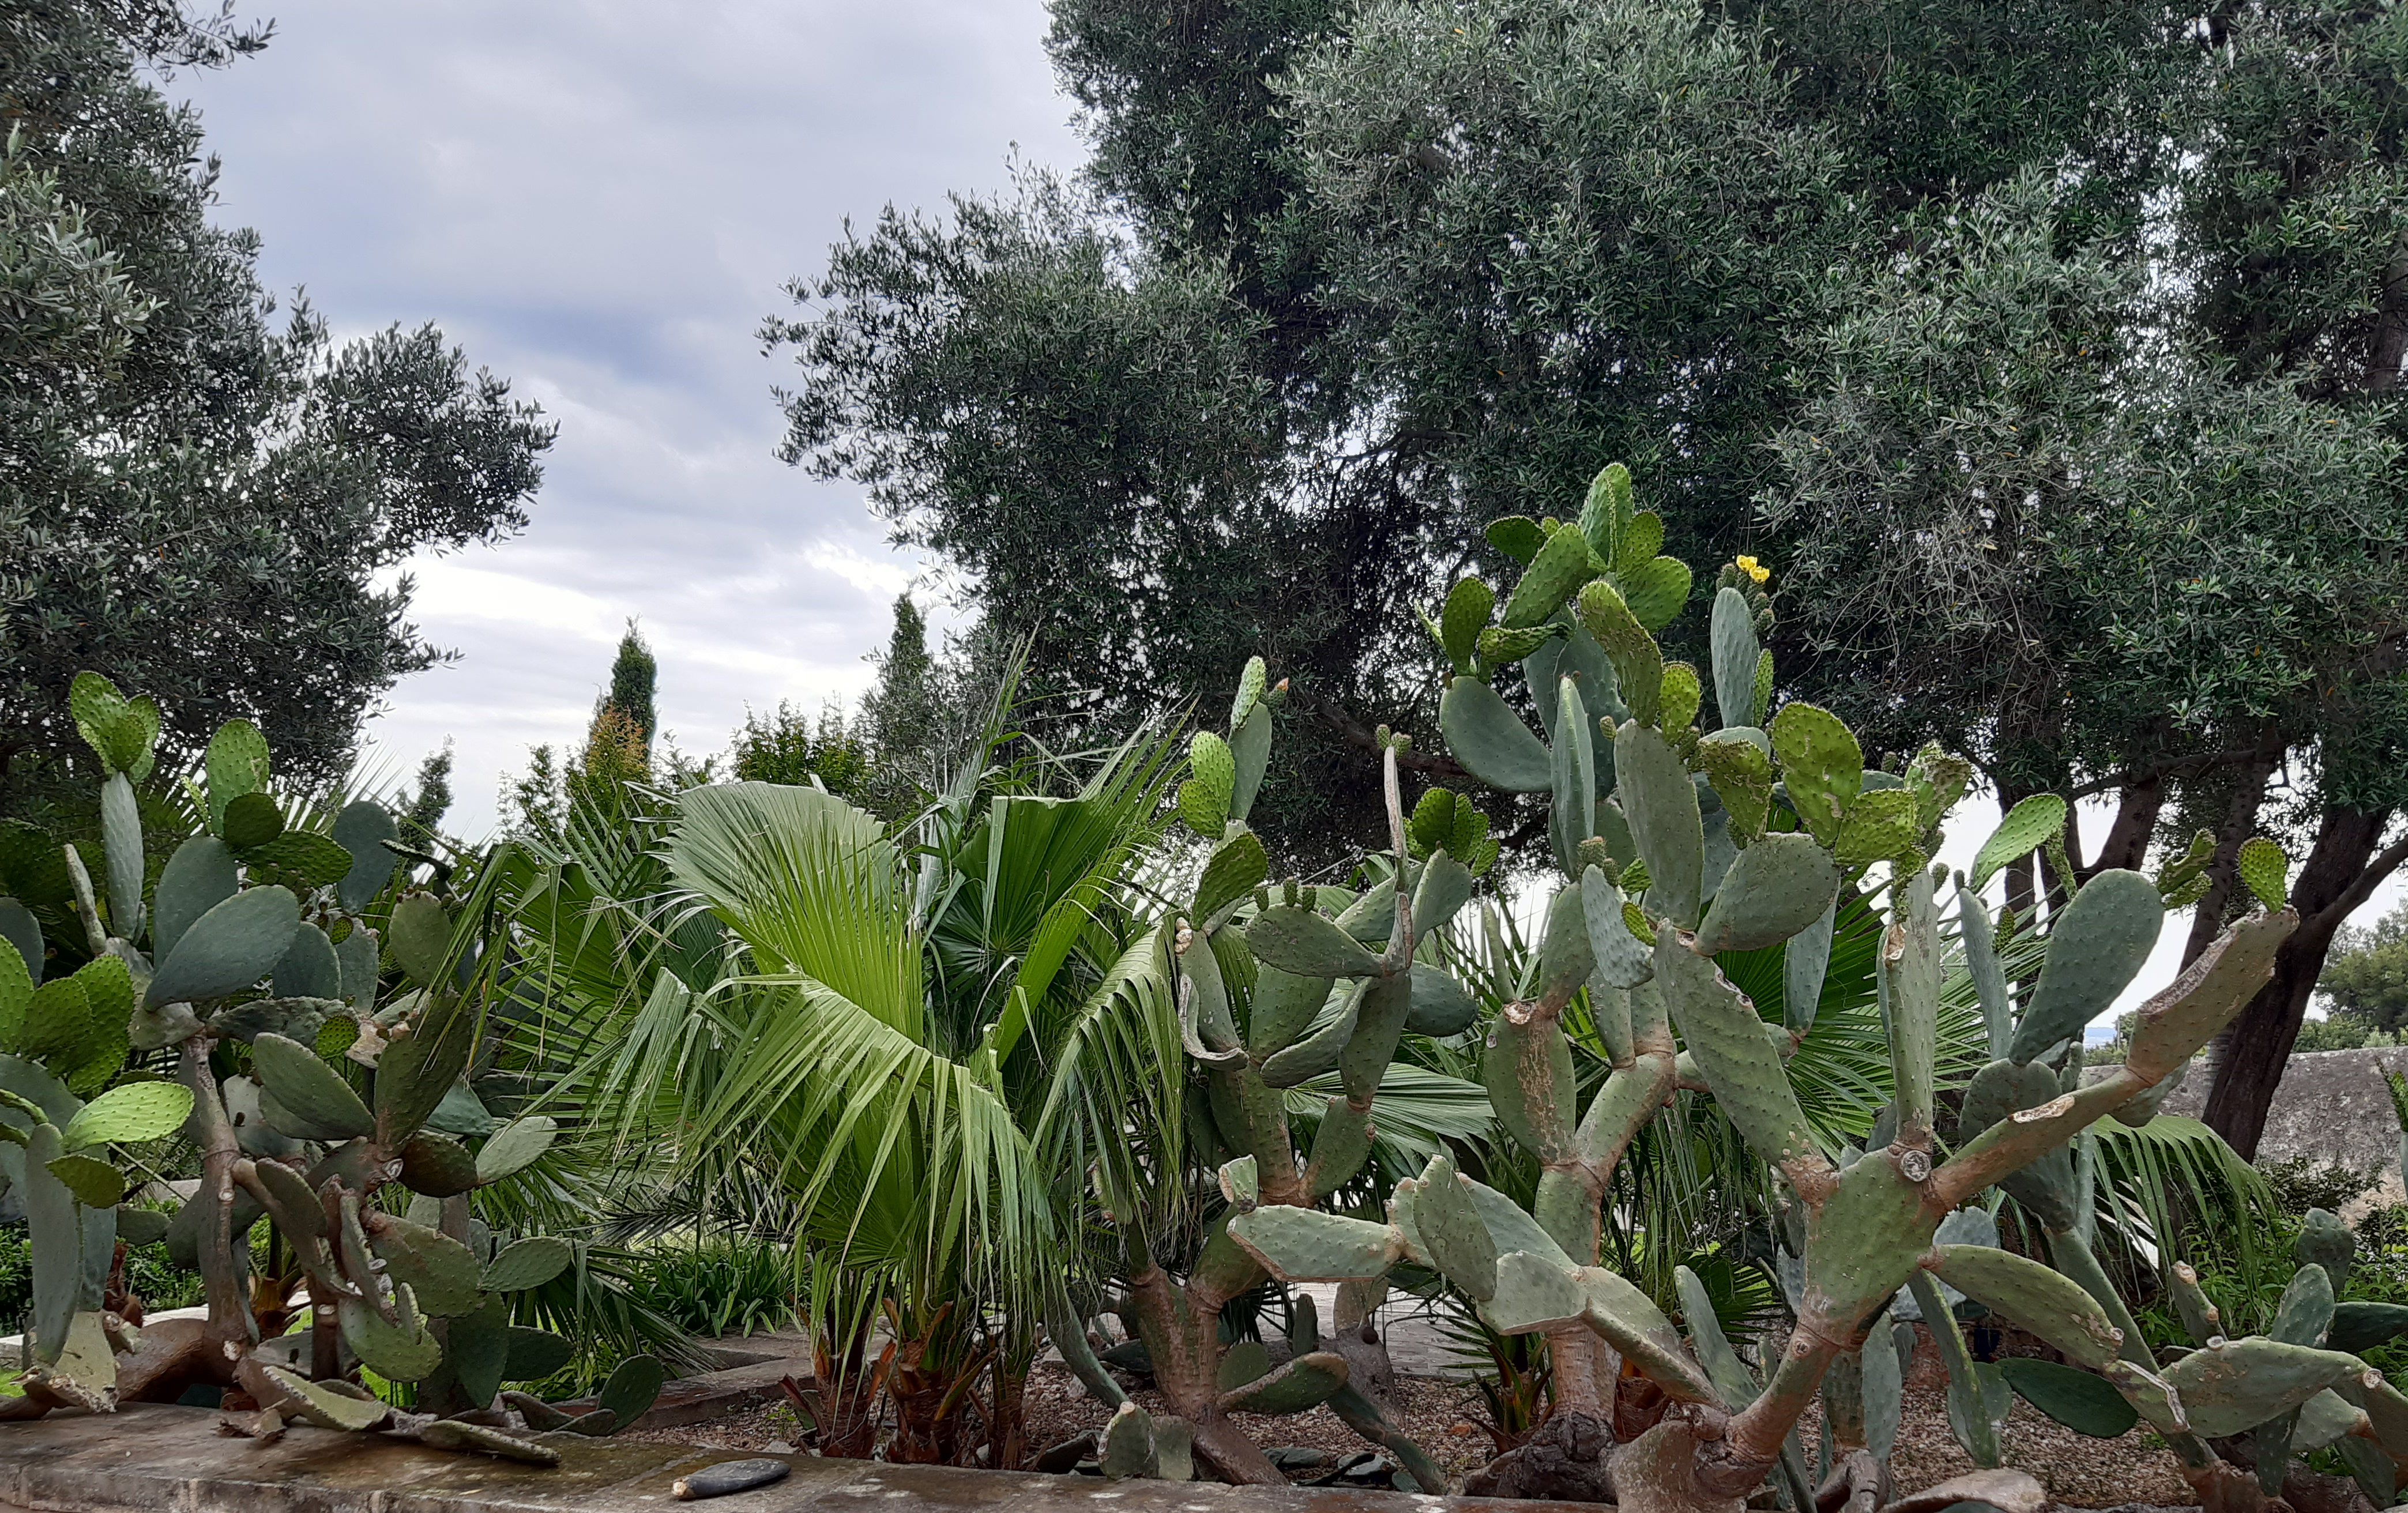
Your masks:
<svg viewBox="0 0 2408 1513"><path fill-rule="evenodd" d="M561 424L525 535L414 564L417 622L462 658L393 691L383 769L455 740L453 826L479 834L527 747L583 735L631 614L689 752L746 706L857 696L920 564L771 455L787 364L754 328L845 217L1081 159L1043 0L253 12L267 53L171 92L267 284L342 332L436 320Z"/></svg>

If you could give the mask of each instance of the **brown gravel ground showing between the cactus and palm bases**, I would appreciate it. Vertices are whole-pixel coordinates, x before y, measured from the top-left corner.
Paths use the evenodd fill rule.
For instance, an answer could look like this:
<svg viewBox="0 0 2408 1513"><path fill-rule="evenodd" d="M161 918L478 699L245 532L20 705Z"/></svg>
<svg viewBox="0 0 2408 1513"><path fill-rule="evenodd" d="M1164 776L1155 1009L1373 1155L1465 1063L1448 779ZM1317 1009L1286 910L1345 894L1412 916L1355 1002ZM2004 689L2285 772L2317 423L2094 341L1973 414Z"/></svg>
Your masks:
<svg viewBox="0 0 2408 1513"><path fill-rule="evenodd" d="M1476 1388L1459 1380L1404 1376L1397 1378L1397 1397L1406 1426L1450 1477L1462 1477L1488 1460L1488 1433L1474 1421L1481 1407ZM1137 1393L1137 1402L1149 1409L1163 1407L1156 1393ZM1026 1400L1031 1453L1105 1419L1103 1405L1091 1400L1067 1368L1040 1364L1031 1373ZM1308 1446L1332 1455L1353 1455L1368 1448L1324 1407L1286 1419L1240 1414L1238 1424L1259 1446ZM1813 1443L1818 1431L1813 1412L1801 1431L1806 1443ZM766 1450L797 1443L799 1424L792 1407L775 1402L681 1429L631 1429L624 1431L624 1438L689 1443L710 1450ZM2049 1496L2071 1508L2189 1506L2196 1501L2174 1455L2146 1426L2114 1441L2085 1438L2023 1400L2015 1400L2006 1421L2006 1462L2040 1477ZM1905 1421L1898 1429L1890 1470L1898 1477L1898 1491L1919 1491L1975 1470L1948 1433L1948 1409L1931 1385L1907 1388Z"/></svg>

